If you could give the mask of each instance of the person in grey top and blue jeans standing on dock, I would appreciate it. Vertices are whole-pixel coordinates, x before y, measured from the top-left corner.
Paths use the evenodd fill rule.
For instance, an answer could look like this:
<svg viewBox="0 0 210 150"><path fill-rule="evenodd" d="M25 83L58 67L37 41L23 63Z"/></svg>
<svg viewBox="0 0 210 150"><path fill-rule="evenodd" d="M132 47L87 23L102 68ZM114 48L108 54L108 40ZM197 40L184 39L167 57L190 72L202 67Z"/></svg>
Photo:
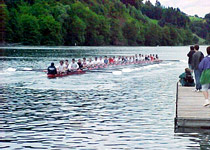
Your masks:
<svg viewBox="0 0 210 150"><path fill-rule="evenodd" d="M201 51L199 51L199 45L195 45L195 53L192 56L192 69L194 70L195 74L195 82L196 82L196 89L195 92L200 92L201 90L201 84L200 84L200 76L201 71L199 70L198 66L201 60L204 58L204 55Z"/></svg>

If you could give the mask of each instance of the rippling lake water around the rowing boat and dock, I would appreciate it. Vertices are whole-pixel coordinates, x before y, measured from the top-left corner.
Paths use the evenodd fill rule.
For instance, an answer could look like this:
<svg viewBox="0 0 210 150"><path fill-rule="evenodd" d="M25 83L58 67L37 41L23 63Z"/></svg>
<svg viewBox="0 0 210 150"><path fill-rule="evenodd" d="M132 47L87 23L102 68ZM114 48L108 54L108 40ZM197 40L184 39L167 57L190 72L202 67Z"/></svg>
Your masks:
<svg viewBox="0 0 210 150"><path fill-rule="evenodd" d="M201 50L205 52L205 46ZM14 47L0 50L0 149L210 149L209 131L174 133L178 76L189 47ZM52 61L158 54L129 65L48 79ZM122 75L114 75L114 71ZM201 101L202 103L202 101Z"/></svg>

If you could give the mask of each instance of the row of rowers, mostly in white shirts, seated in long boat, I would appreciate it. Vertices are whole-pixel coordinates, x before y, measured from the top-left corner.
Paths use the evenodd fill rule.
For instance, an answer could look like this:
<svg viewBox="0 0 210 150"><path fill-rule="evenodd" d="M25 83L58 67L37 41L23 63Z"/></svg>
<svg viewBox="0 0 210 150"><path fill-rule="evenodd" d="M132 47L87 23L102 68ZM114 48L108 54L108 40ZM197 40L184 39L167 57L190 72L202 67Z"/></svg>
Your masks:
<svg viewBox="0 0 210 150"><path fill-rule="evenodd" d="M63 60L60 61L59 65L56 67L57 73L65 73L68 71L76 71L78 69L91 69L94 68L96 66L106 66L106 65L111 65L111 64L116 64L116 65L120 65L120 64L130 64L130 63L139 63L141 61L153 61L153 60L158 60L158 55L135 55L135 56L118 56L118 57L107 57L104 56L104 58L102 56L95 57L93 60L92 58L89 58L88 60L86 60L86 58L84 57L82 60L78 59L78 61L76 62L75 59L72 59L72 62L69 64L68 60L65 60L65 62ZM53 64L54 65L54 64Z"/></svg>

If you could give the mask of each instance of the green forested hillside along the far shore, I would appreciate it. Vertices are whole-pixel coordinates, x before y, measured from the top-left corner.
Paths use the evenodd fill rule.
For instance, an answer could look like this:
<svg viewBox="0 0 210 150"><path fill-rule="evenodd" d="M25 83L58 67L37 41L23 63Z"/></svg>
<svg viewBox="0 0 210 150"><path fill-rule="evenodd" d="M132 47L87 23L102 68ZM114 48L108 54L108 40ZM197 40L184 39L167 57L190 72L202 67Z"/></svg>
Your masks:
<svg viewBox="0 0 210 150"><path fill-rule="evenodd" d="M53 46L176 46L210 43L210 14L142 0L6 0L1 42Z"/></svg>

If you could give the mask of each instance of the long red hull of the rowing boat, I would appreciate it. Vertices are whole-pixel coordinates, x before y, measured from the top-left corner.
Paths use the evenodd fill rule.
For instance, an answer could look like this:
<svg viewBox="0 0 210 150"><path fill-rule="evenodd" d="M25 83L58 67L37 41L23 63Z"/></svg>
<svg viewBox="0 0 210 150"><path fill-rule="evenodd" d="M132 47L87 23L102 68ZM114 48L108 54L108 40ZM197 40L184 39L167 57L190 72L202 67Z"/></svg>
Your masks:
<svg viewBox="0 0 210 150"><path fill-rule="evenodd" d="M92 67L92 68L87 68L84 70L76 70L76 71L71 71L71 72L67 72L67 73L62 73L62 74L47 74L48 78L56 78L56 77L65 77L65 76L70 76L70 75L80 75L80 74L85 74L88 71L92 71L92 70L98 70L98 69L103 69L103 68L107 68L107 67L114 67L114 66L125 66L125 65L131 65L131 64L141 64L141 65L150 65L150 64L157 64L162 62L162 60L154 60L154 61L138 61L138 62L128 62L128 63L123 63L123 64L108 64L108 65L99 65L96 67Z"/></svg>

